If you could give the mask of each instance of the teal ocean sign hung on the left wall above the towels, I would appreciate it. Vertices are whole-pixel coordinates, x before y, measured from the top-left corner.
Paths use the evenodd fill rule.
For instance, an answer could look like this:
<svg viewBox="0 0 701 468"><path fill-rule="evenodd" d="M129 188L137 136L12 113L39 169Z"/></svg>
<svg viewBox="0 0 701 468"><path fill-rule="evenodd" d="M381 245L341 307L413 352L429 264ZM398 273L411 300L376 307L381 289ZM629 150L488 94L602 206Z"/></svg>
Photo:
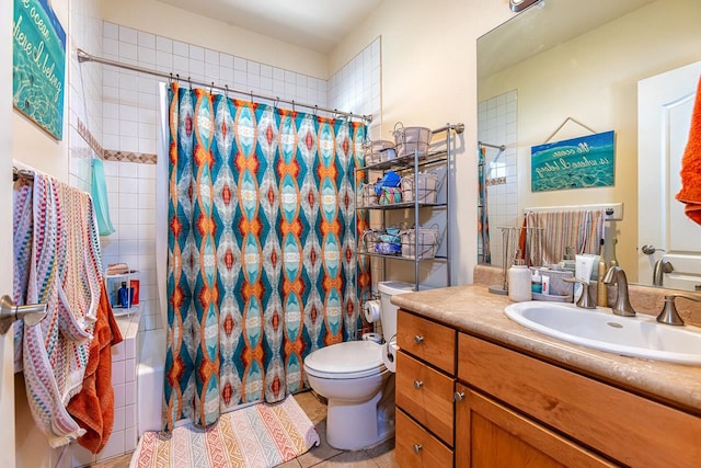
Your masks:
<svg viewBox="0 0 701 468"><path fill-rule="evenodd" d="M66 32L47 0L14 0L12 38L12 105L60 140Z"/></svg>

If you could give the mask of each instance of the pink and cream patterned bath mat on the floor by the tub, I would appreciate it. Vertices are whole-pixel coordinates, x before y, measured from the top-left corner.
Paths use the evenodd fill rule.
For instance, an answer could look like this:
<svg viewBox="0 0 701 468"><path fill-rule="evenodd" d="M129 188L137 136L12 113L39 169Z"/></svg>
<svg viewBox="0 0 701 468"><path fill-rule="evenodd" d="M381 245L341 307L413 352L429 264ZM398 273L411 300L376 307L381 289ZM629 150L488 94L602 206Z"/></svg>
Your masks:
<svg viewBox="0 0 701 468"><path fill-rule="evenodd" d="M319 444L314 425L290 395L226 413L208 430L187 424L170 434L146 432L129 468L274 467Z"/></svg>

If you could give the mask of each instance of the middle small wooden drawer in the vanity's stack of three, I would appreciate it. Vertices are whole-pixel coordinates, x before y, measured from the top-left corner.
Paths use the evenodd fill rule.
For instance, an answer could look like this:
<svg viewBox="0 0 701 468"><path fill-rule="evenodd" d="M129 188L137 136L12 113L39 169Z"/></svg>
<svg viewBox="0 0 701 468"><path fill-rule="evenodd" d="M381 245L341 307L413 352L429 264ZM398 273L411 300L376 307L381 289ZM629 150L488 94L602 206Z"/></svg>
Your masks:
<svg viewBox="0 0 701 468"><path fill-rule="evenodd" d="M400 350L397 353L395 378L397 406L452 446L452 376L447 376Z"/></svg>

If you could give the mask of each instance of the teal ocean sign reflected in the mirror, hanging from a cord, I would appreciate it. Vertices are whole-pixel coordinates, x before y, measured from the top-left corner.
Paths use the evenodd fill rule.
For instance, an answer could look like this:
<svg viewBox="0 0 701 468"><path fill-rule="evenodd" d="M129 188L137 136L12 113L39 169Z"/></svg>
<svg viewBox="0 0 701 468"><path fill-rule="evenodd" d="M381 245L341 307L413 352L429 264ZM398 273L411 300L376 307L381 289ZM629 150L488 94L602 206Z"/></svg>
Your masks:
<svg viewBox="0 0 701 468"><path fill-rule="evenodd" d="M531 191L613 185L613 137L611 130L531 147Z"/></svg>

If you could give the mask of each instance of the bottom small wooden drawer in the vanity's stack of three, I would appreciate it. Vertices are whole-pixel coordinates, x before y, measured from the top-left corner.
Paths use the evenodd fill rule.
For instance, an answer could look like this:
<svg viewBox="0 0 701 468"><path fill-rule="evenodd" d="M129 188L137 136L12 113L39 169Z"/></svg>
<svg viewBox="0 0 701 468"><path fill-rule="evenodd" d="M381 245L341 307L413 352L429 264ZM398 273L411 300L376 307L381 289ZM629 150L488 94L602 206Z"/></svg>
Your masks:
<svg viewBox="0 0 701 468"><path fill-rule="evenodd" d="M430 435L402 410L397 410L394 459L402 468L452 466L452 450Z"/></svg>

